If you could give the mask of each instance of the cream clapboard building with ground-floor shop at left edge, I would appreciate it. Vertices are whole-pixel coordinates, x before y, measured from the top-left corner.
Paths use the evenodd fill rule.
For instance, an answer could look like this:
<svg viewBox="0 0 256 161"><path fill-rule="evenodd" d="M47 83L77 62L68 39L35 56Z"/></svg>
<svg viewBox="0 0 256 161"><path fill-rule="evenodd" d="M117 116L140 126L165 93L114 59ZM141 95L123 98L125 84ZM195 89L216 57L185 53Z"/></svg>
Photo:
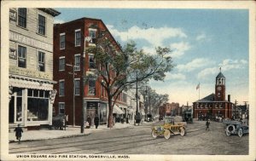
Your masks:
<svg viewBox="0 0 256 161"><path fill-rule="evenodd" d="M51 124L55 9L9 9L9 124Z"/></svg>

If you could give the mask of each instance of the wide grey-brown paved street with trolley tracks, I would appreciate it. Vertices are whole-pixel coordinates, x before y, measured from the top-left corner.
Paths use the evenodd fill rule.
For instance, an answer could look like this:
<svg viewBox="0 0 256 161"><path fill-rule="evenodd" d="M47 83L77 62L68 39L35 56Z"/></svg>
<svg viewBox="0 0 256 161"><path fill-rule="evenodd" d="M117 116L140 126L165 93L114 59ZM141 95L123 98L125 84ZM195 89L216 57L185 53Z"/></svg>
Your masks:
<svg viewBox="0 0 256 161"><path fill-rule="evenodd" d="M157 123L159 124L159 123ZM248 135L226 136L221 123L212 122L205 131L205 122L188 124L185 136L163 136L154 139L151 124L125 129L104 129L91 135L46 141L9 143L9 153L26 154L195 154L247 155Z"/></svg>

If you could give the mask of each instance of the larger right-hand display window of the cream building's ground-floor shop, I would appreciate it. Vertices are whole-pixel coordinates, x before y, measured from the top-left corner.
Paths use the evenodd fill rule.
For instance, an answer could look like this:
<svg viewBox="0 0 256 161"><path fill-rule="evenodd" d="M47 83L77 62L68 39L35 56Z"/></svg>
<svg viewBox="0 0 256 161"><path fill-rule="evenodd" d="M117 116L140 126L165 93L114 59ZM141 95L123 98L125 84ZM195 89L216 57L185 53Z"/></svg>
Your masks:
<svg viewBox="0 0 256 161"><path fill-rule="evenodd" d="M27 121L48 120L49 91L29 89L27 98Z"/></svg>

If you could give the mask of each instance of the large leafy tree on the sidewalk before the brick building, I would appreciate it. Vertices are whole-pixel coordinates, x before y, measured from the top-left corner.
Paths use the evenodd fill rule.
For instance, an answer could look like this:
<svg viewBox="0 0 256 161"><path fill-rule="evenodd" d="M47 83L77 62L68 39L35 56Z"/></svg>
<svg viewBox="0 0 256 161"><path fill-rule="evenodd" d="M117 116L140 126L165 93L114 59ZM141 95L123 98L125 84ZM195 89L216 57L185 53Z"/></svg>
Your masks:
<svg viewBox="0 0 256 161"><path fill-rule="evenodd" d="M154 78L164 80L166 72L171 72L171 50L158 47L154 55L147 55L136 43L127 43L122 49L108 31L99 31L96 46L88 52L95 53L96 74L108 95L108 127L113 124L113 106L124 89L137 81ZM90 76L92 77L92 76Z"/></svg>

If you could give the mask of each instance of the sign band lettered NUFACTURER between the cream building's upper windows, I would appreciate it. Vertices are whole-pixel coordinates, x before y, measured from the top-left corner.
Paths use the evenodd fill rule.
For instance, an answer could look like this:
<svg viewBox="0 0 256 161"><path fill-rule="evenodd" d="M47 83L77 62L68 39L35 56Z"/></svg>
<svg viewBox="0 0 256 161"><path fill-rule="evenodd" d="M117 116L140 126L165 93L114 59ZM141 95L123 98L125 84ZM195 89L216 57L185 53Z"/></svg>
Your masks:
<svg viewBox="0 0 256 161"><path fill-rule="evenodd" d="M26 45L29 45L29 46L32 46L32 47L35 47L38 49L48 50L49 52L53 51L52 44L44 43L44 42L38 41L34 38L20 35L19 33L9 32L9 39L14 40L15 42L24 43Z"/></svg>

